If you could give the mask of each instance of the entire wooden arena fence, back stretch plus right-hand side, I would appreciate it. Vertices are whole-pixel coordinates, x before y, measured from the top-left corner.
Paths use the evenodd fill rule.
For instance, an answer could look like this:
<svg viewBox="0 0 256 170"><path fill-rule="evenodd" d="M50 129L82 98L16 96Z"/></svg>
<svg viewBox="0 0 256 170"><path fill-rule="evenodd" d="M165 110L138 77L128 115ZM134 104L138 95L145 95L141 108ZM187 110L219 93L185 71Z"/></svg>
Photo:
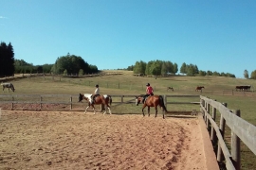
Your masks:
<svg viewBox="0 0 256 170"><path fill-rule="evenodd" d="M135 104L135 94L122 95L112 94L113 107L125 104ZM207 129L210 131L210 140L217 146L216 158L218 162L224 162L227 169L241 168L240 140L256 154L256 127L240 118L240 110L229 110L227 104L219 103L202 95L162 95L166 107L168 105L196 105L202 113ZM189 98L188 100L174 101L174 98ZM192 101L193 100L193 101ZM78 95L70 94L6 94L0 95L0 108L3 105L9 105L11 110L15 110L15 105L35 104L37 108L26 110L47 110L44 105L64 105L57 109L50 110L77 110L74 105L78 103ZM211 106L211 108L210 108ZM3 108L2 108L3 110ZM84 110L84 108L80 109ZM102 108L101 108L102 110ZM190 110L192 112L192 110ZM210 111L212 115L210 115ZM216 112L220 113L219 127L216 123ZM224 141L225 127L229 126L231 130L230 152Z"/></svg>

